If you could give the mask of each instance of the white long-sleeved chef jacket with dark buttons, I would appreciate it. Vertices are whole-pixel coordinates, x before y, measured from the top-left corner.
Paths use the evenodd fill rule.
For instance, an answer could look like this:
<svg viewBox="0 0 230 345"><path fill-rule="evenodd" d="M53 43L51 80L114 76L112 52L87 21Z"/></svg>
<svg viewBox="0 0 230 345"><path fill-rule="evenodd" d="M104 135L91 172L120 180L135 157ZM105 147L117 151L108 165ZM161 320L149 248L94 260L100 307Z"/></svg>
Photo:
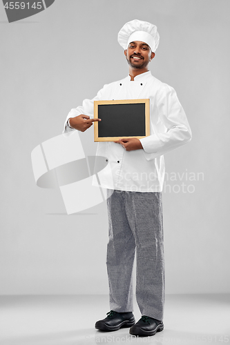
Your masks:
<svg viewBox="0 0 230 345"><path fill-rule="evenodd" d="M134 192L160 192L164 184L164 153L191 140L191 129L176 92L156 79L151 72L106 84L94 99L71 109L64 132L71 129L67 121L77 115L93 117L94 101L150 99L150 136L140 139L143 149L126 151L113 141L99 142L97 155L108 159L108 168L99 174L103 188ZM112 177L111 177L112 172Z"/></svg>

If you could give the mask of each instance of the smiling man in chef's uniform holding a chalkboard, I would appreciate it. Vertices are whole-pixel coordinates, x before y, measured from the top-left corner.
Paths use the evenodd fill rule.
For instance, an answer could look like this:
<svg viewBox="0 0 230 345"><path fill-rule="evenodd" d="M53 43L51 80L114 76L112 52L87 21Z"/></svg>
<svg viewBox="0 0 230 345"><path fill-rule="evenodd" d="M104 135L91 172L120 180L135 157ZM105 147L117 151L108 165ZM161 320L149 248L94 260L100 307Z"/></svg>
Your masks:
<svg viewBox="0 0 230 345"><path fill-rule="evenodd" d="M95 100L150 99L151 134L142 139L100 142L97 155L106 157L113 179L100 184L113 190L107 199L108 247L106 266L111 311L96 322L102 331L130 328L131 335L149 336L162 331L164 313L164 246L162 187L164 153L191 140L191 129L175 90L148 70L159 43L157 27L133 20L118 33L124 48L128 76L104 86L97 96L70 110L65 131L84 132L94 121ZM133 315L133 262L137 257L136 299L142 314Z"/></svg>

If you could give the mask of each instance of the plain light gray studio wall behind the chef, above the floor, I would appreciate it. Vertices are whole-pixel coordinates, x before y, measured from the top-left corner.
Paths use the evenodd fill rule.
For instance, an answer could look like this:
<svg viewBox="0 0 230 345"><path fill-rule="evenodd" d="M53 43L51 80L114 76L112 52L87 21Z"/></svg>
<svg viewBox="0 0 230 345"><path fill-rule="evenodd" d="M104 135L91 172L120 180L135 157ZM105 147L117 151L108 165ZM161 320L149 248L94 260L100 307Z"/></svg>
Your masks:
<svg viewBox="0 0 230 345"><path fill-rule="evenodd" d="M166 293L229 292L229 10L229 0L56 0L9 24L0 4L2 295L108 293L106 204L63 215L59 192L35 185L30 153L70 108L126 77L117 32L132 19L157 25L151 72L178 92L193 131L165 155L177 175L163 195ZM93 128L81 138L93 155Z"/></svg>

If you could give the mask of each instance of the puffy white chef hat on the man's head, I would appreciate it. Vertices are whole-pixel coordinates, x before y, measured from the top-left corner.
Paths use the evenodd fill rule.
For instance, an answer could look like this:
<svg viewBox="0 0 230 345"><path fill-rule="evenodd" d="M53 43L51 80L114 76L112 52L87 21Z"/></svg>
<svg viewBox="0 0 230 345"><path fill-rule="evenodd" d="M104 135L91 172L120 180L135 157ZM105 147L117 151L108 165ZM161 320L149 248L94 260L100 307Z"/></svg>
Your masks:
<svg viewBox="0 0 230 345"><path fill-rule="evenodd" d="M150 46L152 52L158 47L160 36L157 32L157 27L148 21L140 21L134 19L128 21L119 30L117 35L117 41L122 48L127 49L128 44L133 41L142 41Z"/></svg>

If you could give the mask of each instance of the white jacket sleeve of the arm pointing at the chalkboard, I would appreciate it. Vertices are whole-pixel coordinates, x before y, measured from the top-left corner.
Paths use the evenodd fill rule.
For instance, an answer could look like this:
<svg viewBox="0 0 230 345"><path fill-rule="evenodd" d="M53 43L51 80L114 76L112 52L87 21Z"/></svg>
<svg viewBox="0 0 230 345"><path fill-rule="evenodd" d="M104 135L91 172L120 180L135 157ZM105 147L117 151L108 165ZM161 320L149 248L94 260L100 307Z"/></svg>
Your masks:
<svg viewBox="0 0 230 345"><path fill-rule="evenodd" d="M94 116L94 101L99 101L99 99L102 99L102 94L106 86L107 85L105 85L104 88L99 90L97 92L97 96L95 96L93 99L84 99L82 106L78 106L77 108L73 108L70 110L66 117L64 130L62 133L71 132L75 130L74 128L70 128L68 126L68 119L70 119L70 117L76 117L81 114L88 115L91 118Z"/></svg>

